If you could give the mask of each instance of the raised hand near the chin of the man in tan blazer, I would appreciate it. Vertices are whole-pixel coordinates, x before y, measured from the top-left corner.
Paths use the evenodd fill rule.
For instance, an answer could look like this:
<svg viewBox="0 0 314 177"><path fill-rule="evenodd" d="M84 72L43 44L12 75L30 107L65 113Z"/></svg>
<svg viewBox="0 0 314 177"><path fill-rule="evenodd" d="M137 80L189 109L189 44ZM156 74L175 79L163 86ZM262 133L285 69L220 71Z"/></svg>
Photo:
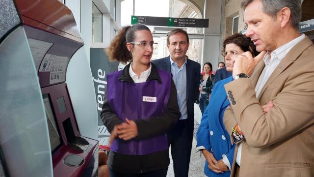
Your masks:
<svg viewBox="0 0 314 177"><path fill-rule="evenodd" d="M235 75L240 73L251 76L254 68L261 61L265 54L266 51L262 51L258 56L253 58L250 52L244 52L242 55L232 57L231 59L234 62L232 76L235 77Z"/></svg>

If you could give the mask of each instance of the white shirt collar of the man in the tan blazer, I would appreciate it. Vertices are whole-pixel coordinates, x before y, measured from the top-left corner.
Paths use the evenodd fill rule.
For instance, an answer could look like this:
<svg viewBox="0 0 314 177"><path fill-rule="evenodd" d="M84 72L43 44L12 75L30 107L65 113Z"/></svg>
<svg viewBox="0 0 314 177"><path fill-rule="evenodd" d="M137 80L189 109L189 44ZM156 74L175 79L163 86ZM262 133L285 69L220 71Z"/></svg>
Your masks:
<svg viewBox="0 0 314 177"><path fill-rule="evenodd" d="M299 43L301 40L303 40L305 38L305 34L302 34L301 36L291 40L290 42L280 46L278 49L274 50L272 53L267 52L266 55L263 58L263 61L266 64L268 64L270 61L270 59L276 59L279 62L286 57L286 55L288 54L288 52L292 49L292 47L294 47L297 43Z"/></svg>

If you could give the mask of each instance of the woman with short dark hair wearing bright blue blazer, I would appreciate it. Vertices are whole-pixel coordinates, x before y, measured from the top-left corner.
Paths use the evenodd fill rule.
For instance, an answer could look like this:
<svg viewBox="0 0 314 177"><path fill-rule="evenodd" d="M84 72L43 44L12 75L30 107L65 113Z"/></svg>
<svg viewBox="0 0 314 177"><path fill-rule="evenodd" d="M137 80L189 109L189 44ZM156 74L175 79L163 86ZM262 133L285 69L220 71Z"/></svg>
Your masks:
<svg viewBox="0 0 314 177"><path fill-rule="evenodd" d="M225 57L227 71L233 70L232 58L244 52L258 55L256 47L249 37L240 33L227 37L223 42L222 56ZM208 108L196 134L196 149L202 150L206 158L204 173L210 177L230 177L234 159L235 145L223 123L226 108L230 105L224 85L233 81L230 76L215 84L212 89Z"/></svg>

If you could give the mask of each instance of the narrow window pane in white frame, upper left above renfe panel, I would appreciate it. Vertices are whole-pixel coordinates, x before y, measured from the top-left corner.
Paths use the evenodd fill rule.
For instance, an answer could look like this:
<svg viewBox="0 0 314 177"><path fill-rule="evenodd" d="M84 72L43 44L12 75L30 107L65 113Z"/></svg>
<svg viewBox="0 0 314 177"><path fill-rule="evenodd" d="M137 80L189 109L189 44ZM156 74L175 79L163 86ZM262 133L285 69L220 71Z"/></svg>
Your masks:
<svg viewBox="0 0 314 177"><path fill-rule="evenodd" d="M92 43L103 42L103 14L92 4Z"/></svg>

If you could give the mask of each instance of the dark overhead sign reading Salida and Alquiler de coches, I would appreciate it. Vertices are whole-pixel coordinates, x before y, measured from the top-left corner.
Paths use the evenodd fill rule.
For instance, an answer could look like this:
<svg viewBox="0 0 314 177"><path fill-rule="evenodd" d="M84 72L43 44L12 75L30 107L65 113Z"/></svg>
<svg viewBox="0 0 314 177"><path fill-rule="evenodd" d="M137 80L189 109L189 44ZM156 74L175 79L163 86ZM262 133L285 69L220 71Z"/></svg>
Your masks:
<svg viewBox="0 0 314 177"><path fill-rule="evenodd" d="M143 24L164 27L208 28L209 19L131 16L131 24Z"/></svg>

